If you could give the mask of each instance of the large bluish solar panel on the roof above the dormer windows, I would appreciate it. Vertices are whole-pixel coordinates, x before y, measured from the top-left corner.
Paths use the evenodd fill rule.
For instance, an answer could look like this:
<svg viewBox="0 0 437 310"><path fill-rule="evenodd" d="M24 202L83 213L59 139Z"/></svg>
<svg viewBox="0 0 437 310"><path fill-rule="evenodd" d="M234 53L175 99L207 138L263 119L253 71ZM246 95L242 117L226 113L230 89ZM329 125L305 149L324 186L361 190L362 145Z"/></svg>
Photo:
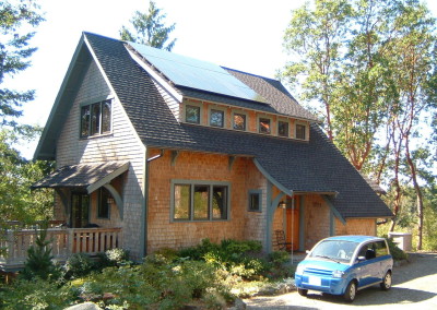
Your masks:
<svg viewBox="0 0 437 310"><path fill-rule="evenodd" d="M265 103L265 99L222 67L150 46L129 43L178 86Z"/></svg>

